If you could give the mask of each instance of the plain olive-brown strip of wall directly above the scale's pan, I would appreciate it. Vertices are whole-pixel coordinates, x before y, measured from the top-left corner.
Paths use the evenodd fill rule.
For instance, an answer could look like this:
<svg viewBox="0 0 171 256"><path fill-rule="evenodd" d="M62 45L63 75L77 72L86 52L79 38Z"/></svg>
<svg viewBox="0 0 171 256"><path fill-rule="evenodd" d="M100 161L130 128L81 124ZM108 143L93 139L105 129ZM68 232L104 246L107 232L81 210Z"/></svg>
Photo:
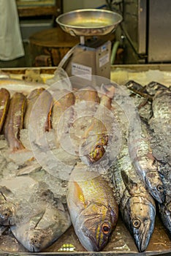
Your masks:
<svg viewBox="0 0 171 256"><path fill-rule="evenodd" d="M76 9L82 8L96 8L105 4L105 0L64 0L63 7L64 12L69 12Z"/></svg>

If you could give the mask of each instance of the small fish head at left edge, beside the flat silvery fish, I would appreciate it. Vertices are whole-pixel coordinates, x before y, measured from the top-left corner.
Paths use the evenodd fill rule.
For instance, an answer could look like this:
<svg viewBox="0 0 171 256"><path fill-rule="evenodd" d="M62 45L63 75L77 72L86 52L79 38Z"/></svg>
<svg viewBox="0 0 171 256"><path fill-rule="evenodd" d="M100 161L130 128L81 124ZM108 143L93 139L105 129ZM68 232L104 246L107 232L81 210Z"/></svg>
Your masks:
<svg viewBox="0 0 171 256"><path fill-rule="evenodd" d="M14 225L15 205L13 203L0 204L0 225Z"/></svg>

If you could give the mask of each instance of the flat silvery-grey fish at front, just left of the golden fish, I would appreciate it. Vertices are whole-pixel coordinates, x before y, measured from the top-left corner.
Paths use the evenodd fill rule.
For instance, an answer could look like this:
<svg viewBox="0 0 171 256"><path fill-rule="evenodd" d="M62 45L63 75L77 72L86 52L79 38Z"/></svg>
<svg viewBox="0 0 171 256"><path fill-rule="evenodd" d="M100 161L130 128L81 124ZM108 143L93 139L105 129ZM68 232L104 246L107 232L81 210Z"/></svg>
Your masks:
<svg viewBox="0 0 171 256"><path fill-rule="evenodd" d="M40 185L41 187L41 185ZM43 189L42 189L43 188ZM53 192L42 184L30 199L31 209L37 213L28 219L18 221L10 227L12 234L29 252L41 252L53 244L71 225L64 205L54 197Z"/></svg>

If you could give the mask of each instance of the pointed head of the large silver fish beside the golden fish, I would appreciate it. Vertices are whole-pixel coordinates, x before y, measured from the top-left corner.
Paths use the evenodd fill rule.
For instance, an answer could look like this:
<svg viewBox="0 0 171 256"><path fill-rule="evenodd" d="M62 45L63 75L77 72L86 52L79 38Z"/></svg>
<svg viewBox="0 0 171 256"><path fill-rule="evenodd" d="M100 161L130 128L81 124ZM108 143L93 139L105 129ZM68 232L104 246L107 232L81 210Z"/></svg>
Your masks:
<svg viewBox="0 0 171 256"><path fill-rule="evenodd" d="M156 208L153 199L130 197L123 209L123 220L134 237L139 252L144 252L153 233Z"/></svg>

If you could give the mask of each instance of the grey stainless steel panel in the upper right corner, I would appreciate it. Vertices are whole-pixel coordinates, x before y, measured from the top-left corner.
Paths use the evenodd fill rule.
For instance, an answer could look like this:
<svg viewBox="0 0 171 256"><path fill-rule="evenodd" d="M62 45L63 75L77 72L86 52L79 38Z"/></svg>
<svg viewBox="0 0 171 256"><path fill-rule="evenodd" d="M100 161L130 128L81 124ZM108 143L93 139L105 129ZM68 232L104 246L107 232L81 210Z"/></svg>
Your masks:
<svg viewBox="0 0 171 256"><path fill-rule="evenodd" d="M171 1L149 1L148 62L171 61Z"/></svg>

